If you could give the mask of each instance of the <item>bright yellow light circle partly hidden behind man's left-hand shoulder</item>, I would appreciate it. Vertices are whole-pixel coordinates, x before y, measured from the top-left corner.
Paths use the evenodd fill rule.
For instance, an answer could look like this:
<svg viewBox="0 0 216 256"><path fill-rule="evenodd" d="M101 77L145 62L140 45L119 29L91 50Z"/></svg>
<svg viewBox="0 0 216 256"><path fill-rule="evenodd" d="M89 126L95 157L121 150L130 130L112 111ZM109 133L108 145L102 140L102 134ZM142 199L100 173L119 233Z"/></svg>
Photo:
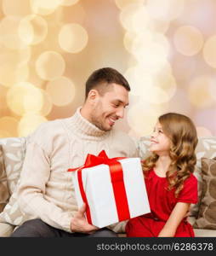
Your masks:
<svg viewBox="0 0 216 256"><path fill-rule="evenodd" d="M39 125L46 122L48 119L36 113L27 113L21 119L18 125L19 137L27 137L37 129Z"/></svg>

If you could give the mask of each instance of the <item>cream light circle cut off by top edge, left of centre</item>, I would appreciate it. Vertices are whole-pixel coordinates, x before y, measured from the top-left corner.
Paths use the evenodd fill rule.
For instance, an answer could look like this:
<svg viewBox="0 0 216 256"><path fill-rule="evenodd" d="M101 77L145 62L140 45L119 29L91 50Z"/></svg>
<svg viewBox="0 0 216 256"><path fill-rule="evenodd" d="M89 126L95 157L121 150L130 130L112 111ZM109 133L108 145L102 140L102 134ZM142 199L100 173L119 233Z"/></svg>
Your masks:
<svg viewBox="0 0 216 256"><path fill-rule="evenodd" d="M30 0L31 9L37 15L50 15L60 6L62 0Z"/></svg>

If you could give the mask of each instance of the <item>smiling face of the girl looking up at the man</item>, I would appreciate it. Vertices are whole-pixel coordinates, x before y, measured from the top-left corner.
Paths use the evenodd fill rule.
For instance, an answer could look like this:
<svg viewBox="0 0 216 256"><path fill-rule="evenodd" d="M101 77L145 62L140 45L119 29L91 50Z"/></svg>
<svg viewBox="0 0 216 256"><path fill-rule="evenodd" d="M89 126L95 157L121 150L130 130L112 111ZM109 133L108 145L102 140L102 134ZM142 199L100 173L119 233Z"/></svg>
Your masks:
<svg viewBox="0 0 216 256"><path fill-rule="evenodd" d="M151 134L150 151L157 155L169 155L170 140L163 133L162 125L157 122L153 133Z"/></svg>

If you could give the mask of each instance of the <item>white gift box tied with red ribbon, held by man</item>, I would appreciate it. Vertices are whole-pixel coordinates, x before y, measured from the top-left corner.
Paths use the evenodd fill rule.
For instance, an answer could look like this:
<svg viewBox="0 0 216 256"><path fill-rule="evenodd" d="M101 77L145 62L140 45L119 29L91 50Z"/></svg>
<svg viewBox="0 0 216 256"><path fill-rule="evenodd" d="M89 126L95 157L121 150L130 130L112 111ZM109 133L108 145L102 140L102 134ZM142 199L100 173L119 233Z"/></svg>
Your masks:
<svg viewBox="0 0 216 256"><path fill-rule="evenodd" d="M99 228L151 212L140 159L125 158L118 160L118 162L122 165L122 182L125 188L125 190L121 189L120 191L121 193L122 190L126 192L125 197L128 201L129 212L126 216L123 214L124 219L119 219L118 211L125 212L124 207L121 207L121 201L119 205L119 198L117 211L117 197L115 197L111 182L110 166L100 164L99 166L83 168L81 171L82 188L88 201L91 222ZM82 207L83 200L77 173L78 171L74 172L73 182L78 207ZM117 188L118 183L115 186Z"/></svg>

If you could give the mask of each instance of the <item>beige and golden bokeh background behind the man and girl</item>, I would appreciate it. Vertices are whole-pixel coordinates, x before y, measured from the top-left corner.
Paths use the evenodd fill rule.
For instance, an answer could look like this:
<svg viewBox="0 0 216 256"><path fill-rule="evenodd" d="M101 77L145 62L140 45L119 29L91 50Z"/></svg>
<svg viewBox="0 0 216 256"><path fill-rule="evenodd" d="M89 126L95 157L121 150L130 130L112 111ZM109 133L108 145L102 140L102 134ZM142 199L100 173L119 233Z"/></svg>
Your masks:
<svg viewBox="0 0 216 256"><path fill-rule="evenodd" d="M215 0L0 0L0 137L71 116L100 67L131 85L131 136L170 111L215 136L215 16Z"/></svg>

